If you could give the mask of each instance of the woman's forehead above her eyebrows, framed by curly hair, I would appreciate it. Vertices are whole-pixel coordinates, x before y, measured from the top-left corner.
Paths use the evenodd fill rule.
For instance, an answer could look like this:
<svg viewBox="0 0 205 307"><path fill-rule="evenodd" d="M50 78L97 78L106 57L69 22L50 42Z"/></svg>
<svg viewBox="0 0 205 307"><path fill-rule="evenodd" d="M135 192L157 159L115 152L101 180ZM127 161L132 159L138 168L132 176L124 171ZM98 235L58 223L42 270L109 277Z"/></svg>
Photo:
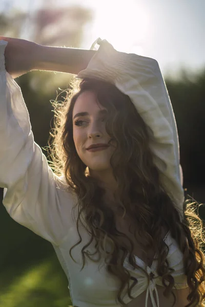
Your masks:
<svg viewBox="0 0 205 307"><path fill-rule="evenodd" d="M73 116L79 112L98 112L100 110L106 110L106 108L99 103L96 94L91 91L81 93L75 101L73 108Z"/></svg>

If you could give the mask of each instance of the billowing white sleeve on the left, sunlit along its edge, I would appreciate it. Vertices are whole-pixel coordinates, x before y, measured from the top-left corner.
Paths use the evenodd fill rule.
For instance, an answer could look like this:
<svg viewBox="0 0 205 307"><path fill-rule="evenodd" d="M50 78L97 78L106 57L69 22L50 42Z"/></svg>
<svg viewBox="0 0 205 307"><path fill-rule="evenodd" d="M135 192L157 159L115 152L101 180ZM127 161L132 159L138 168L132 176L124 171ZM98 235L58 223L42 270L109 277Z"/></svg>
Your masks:
<svg viewBox="0 0 205 307"><path fill-rule="evenodd" d="M34 142L20 87L5 70L7 42L0 40L0 187L3 204L17 223L53 245L71 226L73 196Z"/></svg>

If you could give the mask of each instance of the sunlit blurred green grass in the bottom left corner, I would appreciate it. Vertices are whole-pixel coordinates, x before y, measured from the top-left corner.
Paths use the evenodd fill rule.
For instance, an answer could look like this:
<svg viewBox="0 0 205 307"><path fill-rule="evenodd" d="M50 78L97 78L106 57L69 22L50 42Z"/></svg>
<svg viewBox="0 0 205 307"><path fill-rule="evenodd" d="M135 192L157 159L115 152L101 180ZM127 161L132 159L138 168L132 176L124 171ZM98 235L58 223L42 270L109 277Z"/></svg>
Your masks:
<svg viewBox="0 0 205 307"><path fill-rule="evenodd" d="M4 274L1 275L2 279ZM0 306L4 307L68 305L72 305L68 281L55 257L41 261L13 279L11 277L9 286L0 290Z"/></svg>

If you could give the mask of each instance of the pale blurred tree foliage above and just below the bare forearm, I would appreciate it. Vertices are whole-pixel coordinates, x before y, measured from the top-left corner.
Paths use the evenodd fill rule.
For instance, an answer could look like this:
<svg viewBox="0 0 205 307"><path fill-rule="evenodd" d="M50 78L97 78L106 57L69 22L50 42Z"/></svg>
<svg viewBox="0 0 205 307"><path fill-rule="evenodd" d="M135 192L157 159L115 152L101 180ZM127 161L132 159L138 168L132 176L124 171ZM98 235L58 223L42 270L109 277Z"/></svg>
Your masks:
<svg viewBox="0 0 205 307"><path fill-rule="evenodd" d="M36 10L22 12L6 1L0 14L1 35L29 39L45 46L80 48L84 27L93 18L91 11L80 6L56 7L51 0L42 0L41 4ZM27 79L28 86L48 93L53 86L68 86L70 77L66 73L35 72L16 81L20 84L22 79Z"/></svg>

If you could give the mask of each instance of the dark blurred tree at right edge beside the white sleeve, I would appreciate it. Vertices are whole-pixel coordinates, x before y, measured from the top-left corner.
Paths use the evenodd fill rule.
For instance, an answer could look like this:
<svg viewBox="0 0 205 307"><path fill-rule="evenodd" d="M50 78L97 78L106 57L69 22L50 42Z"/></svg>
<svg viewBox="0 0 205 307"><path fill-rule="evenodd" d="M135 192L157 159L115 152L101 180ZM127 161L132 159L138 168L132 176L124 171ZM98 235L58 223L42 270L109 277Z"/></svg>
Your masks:
<svg viewBox="0 0 205 307"><path fill-rule="evenodd" d="M178 128L184 186L204 186L205 69L194 75L182 70L177 81L167 79L166 84Z"/></svg>

